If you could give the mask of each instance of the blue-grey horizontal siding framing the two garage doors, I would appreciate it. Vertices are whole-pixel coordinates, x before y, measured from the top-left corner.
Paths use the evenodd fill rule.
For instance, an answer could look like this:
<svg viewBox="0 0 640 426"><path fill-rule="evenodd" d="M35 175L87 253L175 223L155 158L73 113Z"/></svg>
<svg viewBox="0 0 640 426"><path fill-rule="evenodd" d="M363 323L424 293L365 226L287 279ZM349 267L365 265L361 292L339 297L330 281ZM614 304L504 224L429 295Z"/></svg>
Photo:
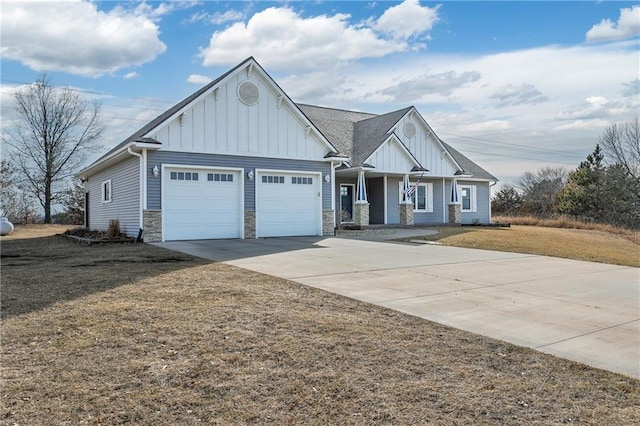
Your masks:
<svg viewBox="0 0 640 426"><path fill-rule="evenodd" d="M150 210L159 210L162 208L162 197L160 193L162 177L153 177L152 173L155 165L161 169L162 164L243 168L245 210L255 210L256 205L255 180L250 181L247 178L249 170L253 170L254 173L255 169L321 172L322 209L331 210L331 182L324 180L324 176L331 173L331 163L169 151L152 151L149 152L147 157L147 208Z"/></svg>

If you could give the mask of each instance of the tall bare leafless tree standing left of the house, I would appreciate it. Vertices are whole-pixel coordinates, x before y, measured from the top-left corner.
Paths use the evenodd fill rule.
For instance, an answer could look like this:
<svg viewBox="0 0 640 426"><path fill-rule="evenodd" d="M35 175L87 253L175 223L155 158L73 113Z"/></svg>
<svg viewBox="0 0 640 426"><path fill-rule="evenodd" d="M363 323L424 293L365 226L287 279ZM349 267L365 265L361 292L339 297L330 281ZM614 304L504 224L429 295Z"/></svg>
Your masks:
<svg viewBox="0 0 640 426"><path fill-rule="evenodd" d="M2 139L13 148L13 163L44 208L44 222L51 223L51 206L63 196L65 181L97 148L104 130L100 105L75 90L54 87L46 74L14 98L19 118Z"/></svg>

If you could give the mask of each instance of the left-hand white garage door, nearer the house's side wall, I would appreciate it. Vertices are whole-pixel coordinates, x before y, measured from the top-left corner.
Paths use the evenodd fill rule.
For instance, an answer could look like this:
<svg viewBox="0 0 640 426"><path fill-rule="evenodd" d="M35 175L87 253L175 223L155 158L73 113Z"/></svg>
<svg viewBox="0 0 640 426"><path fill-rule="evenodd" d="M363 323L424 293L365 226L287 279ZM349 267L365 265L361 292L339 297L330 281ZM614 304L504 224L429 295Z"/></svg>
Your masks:
<svg viewBox="0 0 640 426"><path fill-rule="evenodd" d="M240 172L167 167L163 173L164 240L240 238Z"/></svg>

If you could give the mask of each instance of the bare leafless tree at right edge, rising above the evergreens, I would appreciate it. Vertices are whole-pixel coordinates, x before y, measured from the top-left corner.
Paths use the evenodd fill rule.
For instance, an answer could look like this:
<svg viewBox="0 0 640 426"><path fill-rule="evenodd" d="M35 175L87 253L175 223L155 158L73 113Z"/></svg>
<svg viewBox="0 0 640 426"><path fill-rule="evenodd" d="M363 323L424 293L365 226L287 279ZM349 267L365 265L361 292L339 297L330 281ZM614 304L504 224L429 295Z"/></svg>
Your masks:
<svg viewBox="0 0 640 426"><path fill-rule="evenodd" d="M600 136L602 150L611 164L619 164L640 184L640 120L612 124Z"/></svg>

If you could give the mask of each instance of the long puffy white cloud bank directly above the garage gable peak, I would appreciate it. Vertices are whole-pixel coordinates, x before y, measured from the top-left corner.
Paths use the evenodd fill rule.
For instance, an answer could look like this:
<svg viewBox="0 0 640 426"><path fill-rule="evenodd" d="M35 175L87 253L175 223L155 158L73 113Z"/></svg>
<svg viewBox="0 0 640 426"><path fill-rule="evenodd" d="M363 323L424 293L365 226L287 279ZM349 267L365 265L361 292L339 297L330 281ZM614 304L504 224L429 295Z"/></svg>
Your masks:
<svg viewBox="0 0 640 426"><path fill-rule="evenodd" d="M411 19L391 26L390 16ZM416 0L393 6L379 20L351 24L350 15L303 17L291 7L270 7L246 23L236 22L216 31L209 45L200 48L203 65L231 65L255 55L265 67L277 71L314 70L340 66L363 58L415 51L422 44L406 38L424 34L437 21L437 8L421 7ZM399 38L385 36L391 34Z"/></svg>

